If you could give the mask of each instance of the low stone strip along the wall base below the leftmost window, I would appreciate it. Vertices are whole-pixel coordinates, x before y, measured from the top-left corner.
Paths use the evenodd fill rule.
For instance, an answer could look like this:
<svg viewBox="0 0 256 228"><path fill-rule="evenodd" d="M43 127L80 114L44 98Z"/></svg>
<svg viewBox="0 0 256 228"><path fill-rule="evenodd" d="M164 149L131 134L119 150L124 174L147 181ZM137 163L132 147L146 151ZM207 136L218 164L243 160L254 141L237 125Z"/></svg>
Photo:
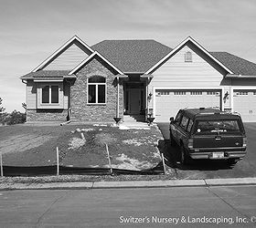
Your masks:
<svg viewBox="0 0 256 228"><path fill-rule="evenodd" d="M27 122L29 121L66 121L67 109L27 109Z"/></svg>

